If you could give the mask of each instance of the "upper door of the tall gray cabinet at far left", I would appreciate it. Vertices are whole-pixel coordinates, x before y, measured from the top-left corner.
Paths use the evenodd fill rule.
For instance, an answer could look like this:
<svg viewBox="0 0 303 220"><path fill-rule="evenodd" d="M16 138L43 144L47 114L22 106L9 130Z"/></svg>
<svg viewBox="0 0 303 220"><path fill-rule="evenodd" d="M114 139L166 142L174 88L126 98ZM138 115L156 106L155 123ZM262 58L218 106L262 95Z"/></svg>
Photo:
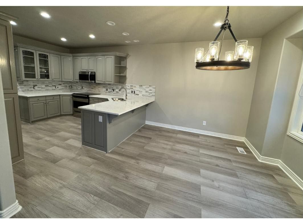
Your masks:
<svg viewBox="0 0 303 220"><path fill-rule="evenodd" d="M17 93L12 28L4 20L0 20L0 69L4 94Z"/></svg>

